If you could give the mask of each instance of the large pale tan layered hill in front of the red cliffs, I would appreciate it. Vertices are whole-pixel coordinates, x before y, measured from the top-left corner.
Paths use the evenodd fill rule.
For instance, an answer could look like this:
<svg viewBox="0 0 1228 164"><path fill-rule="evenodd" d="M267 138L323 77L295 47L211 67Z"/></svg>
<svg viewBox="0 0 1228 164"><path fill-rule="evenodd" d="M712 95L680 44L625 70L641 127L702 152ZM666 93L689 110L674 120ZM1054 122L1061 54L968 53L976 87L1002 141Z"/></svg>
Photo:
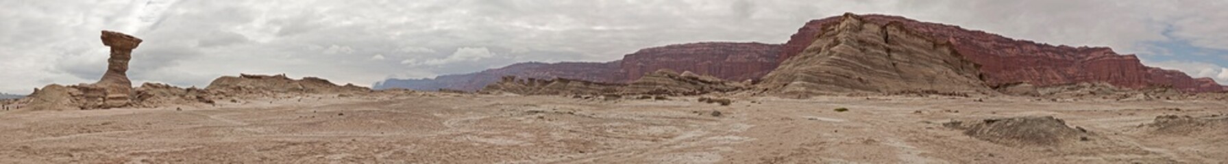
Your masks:
<svg viewBox="0 0 1228 164"><path fill-rule="evenodd" d="M799 55L764 77L774 93L989 93L976 64L949 43L930 40L900 23L876 24L847 13L825 27Z"/></svg>

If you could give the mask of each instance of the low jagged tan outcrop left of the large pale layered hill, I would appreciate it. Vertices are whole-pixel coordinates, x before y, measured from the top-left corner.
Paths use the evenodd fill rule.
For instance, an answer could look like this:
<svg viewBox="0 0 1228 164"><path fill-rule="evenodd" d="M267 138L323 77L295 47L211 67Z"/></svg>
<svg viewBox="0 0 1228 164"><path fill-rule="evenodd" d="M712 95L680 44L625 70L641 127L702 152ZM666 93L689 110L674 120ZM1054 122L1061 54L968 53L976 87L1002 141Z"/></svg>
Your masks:
<svg viewBox="0 0 1228 164"><path fill-rule="evenodd" d="M728 82L712 76L658 70L626 84L567 78L522 80L506 76L500 82L486 86L481 92L522 95L700 95L740 91L745 89L747 86L747 83Z"/></svg>

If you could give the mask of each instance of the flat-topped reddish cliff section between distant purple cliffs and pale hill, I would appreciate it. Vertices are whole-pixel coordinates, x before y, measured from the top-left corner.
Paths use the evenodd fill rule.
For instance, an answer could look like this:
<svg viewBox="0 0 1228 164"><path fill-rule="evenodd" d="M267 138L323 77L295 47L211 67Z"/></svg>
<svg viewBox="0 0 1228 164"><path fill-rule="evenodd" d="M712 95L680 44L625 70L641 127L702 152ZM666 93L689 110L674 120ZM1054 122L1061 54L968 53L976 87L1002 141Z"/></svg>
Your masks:
<svg viewBox="0 0 1228 164"><path fill-rule="evenodd" d="M780 44L690 43L647 48L623 58L621 80L630 82L668 69L728 81L759 80L777 66Z"/></svg>

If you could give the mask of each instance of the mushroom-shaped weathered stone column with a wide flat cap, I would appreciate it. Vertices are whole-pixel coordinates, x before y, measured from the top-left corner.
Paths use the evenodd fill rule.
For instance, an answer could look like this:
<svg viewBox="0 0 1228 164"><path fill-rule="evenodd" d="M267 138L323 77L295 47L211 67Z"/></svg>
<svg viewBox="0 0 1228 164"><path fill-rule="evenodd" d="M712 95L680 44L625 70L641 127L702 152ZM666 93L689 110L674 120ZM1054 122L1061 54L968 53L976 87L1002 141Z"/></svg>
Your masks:
<svg viewBox="0 0 1228 164"><path fill-rule="evenodd" d="M102 108L125 106L131 102L133 82L128 80L128 60L133 59L133 49L141 39L111 31L102 31L102 44L111 47L111 59L107 59L107 73L93 87L103 91Z"/></svg>

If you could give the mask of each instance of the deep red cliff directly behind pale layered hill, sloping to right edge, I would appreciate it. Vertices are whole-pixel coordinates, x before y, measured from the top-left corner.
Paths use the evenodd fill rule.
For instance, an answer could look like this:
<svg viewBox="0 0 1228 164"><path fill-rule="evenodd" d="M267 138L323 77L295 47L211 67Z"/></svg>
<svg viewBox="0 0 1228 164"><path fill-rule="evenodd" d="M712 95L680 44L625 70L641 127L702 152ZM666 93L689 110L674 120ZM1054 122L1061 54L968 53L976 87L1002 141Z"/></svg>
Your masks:
<svg viewBox="0 0 1228 164"><path fill-rule="evenodd" d="M780 61L798 56L817 40L824 27L842 17L807 22L785 43ZM869 23L899 22L905 28L935 40L947 40L968 60L980 64L990 86L1030 83L1038 87L1083 82L1106 82L1125 88L1172 86L1184 92L1219 92L1224 87L1210 78L1191 78L1173 70L1148 67L1135 55L1119 55L1109 48L1066 47L1016 40L958 26L920 22L898 16L866 15Z"/></svg>

